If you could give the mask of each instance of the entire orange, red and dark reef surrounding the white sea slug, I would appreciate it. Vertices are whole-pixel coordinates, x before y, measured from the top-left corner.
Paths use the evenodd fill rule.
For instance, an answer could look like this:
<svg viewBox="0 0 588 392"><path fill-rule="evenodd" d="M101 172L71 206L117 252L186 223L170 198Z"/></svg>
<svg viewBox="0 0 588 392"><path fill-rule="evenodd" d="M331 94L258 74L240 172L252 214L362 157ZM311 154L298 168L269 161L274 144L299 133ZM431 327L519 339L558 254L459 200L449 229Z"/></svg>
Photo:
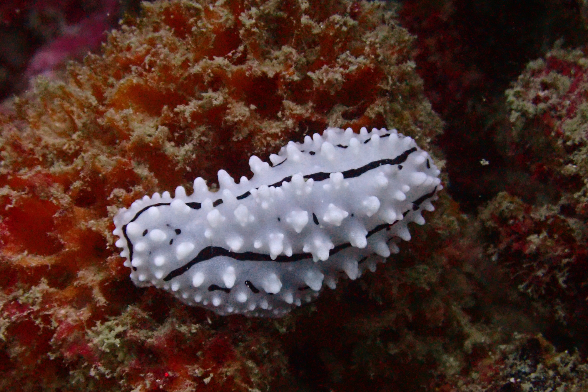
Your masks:
<svg viewBox="0 0 588 392"><path fill-rule="evenodd" d="M588 388L586 2L52 7L0 6L1 390ZM133 285L118 208L327 126L443 168L399 254L281 319Z"/></svg>

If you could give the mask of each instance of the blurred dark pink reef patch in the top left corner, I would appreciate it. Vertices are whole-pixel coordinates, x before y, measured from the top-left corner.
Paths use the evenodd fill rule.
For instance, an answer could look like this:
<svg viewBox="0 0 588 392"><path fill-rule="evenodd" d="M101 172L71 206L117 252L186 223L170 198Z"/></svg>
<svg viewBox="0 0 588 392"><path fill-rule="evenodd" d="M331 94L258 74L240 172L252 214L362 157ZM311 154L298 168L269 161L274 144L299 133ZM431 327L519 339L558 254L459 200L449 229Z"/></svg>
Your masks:
<svg viewBox="0 0 588 392"><path fill-rule="evenodd" d="M29 87L31 77L59 78L68 61L96 52L137 0L7 0L0 4L0 99Z"/></svg>

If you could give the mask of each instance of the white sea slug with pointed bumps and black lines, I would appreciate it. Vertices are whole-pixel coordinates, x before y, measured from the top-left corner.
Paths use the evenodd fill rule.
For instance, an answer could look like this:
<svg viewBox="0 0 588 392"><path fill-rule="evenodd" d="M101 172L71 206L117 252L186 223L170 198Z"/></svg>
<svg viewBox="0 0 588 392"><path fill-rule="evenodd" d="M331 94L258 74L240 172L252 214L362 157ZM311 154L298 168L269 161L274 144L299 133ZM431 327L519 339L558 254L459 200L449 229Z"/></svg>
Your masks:
<svg viewBox="0 0 588 392"><path fill-rule="evenodd" d="M113 234L135 285L219 315L282 316L375 271L442 189L429 154L396 130L329 128L270 161L252 156L239 183L220 170L216 192L196 178L191 195L121 208Z"/></svg>

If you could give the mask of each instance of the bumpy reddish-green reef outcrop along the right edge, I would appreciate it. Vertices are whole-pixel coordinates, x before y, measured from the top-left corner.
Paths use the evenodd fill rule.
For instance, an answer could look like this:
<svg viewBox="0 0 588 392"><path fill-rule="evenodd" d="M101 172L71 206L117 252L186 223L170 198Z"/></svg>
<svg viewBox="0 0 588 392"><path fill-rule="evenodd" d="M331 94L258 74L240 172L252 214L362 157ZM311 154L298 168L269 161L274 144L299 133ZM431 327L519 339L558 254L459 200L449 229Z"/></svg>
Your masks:
<svg viewBox="0 0 588 392"><path fill-rule="evenodd" d="M488 251L553 320L554 339L588 353L588 56L554 49L527 65L506 92L512 127L505 156L541 186L501 192L480 214ZM519 181L527 182L526 178ZM520 188L524 188L522 185Z"/></svg>

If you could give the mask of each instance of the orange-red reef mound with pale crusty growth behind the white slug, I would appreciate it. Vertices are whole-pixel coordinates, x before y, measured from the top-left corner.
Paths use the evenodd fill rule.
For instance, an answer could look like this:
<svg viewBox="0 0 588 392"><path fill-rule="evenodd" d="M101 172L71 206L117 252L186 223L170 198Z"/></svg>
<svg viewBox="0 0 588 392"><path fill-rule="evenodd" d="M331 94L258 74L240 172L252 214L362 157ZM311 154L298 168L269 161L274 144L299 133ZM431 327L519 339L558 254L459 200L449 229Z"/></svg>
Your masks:
<svg viewBox="0 0 588 392"><path fill-rule="evenodd" d="M270 323L132 285L112 215L220 168L249 175L251 154L327 126L397 127L430 149L440 121L393 17L367 1L153 2L63 82L14 99L0 117L0 388L287 380Z"/></svg>

